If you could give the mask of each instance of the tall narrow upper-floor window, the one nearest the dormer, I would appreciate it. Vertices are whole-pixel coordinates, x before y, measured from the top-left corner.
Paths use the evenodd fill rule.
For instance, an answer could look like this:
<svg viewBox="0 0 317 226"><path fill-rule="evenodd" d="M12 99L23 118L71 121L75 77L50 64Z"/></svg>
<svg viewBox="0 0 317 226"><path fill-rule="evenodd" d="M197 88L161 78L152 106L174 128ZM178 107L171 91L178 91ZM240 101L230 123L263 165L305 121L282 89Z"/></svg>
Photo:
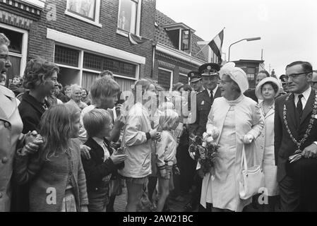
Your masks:
<svg viewBox="0 0 317 226"><path fill-rule="evenodd" d="M141 0L120 0L118 18L119 30L139 35L140 1Z"/></svg>

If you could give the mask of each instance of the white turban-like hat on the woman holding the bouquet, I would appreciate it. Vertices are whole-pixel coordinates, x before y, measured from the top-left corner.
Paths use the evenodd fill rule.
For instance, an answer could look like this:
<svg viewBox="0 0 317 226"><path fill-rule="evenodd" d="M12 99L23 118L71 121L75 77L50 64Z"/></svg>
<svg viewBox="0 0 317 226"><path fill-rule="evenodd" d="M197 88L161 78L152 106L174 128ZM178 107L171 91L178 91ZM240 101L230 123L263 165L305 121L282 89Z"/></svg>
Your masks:
<svg viewBox="0 0 317 226"><path fill-rule="evenodd" d="M246 73L244 72L244 70L235 67L235 64L233 62L229 62L222 66L219 74L220 78L225 74L230 76L230 78L239 86L241 93L244 93L246 90L249 89L249 81L246 77Z"/></svg>

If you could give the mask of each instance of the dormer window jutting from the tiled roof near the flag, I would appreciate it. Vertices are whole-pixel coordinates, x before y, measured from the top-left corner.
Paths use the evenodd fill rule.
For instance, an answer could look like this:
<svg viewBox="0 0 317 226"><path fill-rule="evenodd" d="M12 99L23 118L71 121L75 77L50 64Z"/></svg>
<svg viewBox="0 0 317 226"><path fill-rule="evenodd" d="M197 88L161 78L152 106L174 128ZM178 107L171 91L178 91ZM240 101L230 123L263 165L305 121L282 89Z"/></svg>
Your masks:
<svg viewBox="0 0 317 226"><path fill-rule="evenodd" d="M175 49L179 49L185 52L191 52L191 34L195 30L189 28L184 23L171 23L163 25L169 39L172 41Z"/></svg>

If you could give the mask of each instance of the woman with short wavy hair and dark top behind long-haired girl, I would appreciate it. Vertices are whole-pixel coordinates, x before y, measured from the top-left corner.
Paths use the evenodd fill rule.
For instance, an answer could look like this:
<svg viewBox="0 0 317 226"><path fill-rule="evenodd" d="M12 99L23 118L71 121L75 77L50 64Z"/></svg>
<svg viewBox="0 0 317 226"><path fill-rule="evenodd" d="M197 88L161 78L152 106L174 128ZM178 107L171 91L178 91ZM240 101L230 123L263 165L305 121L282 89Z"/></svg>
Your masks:
<svg viewBox="0 0 317 226"><path fill-rule="evenodd" d="M38 131L42 114L49 107L49 102L45 97L51 95L51 90L57 80L57 73L59 73L59 67L52 62L42 58L28 61L23 75L23 86L29 91L23 94L18 106L23 121L23 133ZM28 184L13 186L12 197L13 211L29 210Z"/></svg>

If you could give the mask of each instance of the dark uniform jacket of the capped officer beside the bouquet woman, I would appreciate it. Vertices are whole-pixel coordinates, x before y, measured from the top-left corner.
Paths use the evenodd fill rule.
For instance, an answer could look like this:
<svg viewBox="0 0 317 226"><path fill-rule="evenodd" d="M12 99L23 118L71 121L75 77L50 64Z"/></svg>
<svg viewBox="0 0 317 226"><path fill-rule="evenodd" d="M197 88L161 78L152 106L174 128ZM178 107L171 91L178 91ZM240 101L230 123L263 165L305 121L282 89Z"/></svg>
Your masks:
<svg viewBox="0 0 317 226"><path fill-rule="evenodd" d="M221 91L218 87L213 97L221 97ZM195 134L196 136L203 136L203 133L206 131L206 124L208 121L208 114L210 112L211 105L213 102L210 102L210 97L208 90L203 90L203 92L198 93L196 97L196 121L191 125L190 133Z"/></svg>

